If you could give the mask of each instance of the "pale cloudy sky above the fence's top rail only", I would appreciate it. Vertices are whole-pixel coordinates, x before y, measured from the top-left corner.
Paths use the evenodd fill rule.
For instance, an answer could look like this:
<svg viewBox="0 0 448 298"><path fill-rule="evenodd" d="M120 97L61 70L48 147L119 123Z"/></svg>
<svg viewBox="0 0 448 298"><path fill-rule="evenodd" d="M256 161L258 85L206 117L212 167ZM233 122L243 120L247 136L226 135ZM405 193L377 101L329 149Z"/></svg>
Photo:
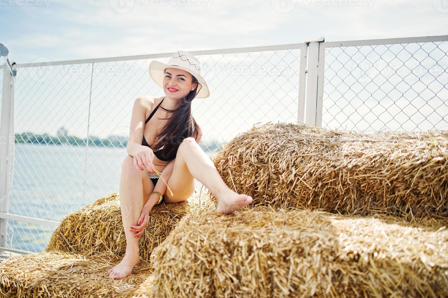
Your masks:
<svg viewBox="0 0 448 298"><path fill-rule="evenodd" d="M0 0L0 13L18 64L448 32L447 0Z"/></svg>

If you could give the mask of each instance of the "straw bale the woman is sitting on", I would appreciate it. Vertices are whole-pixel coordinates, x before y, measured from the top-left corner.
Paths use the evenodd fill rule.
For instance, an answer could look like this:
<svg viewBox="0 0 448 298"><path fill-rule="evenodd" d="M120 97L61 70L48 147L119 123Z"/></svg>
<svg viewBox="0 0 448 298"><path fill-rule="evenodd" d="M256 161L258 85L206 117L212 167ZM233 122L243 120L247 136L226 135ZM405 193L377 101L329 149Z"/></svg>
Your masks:
<svg viewBox="0 0 448 298"><path fill-rule="evenodd" d="M151 210L148 226L138 242L140 257L149 261L152 249L164 241L177 222L200 208L216 207L203 194L202 198L199 198L199 194L194 194L181 203L155 205ZM124 255L126 238L119 193L100 198L61 220L43 251L52 250L88 255L104 252Z"/></svg>

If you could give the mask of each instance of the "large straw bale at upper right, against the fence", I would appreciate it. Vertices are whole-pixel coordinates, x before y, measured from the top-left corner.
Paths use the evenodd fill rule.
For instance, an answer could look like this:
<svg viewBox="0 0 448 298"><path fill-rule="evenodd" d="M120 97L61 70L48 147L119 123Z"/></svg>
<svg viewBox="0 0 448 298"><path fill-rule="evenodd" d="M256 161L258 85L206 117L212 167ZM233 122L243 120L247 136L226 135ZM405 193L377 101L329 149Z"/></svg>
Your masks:
<svg viewBox="0 0 448 298"><path fill-rule="evenodd" d="M447 147L447 131L359 134L268 123L233 138L213 163L229 187L254 198L250 207L412 222L448 218Z"/></svg>

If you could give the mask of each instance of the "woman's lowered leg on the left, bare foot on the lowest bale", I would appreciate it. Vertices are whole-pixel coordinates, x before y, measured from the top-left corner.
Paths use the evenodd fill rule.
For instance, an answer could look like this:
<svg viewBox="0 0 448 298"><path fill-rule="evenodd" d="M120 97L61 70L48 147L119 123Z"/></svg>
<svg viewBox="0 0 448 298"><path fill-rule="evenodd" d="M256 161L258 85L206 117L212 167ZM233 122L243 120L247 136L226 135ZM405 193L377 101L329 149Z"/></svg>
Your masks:
<svg viewBox="0 0 448 298"><path fill-rule="evenodd" d="M134 237L135 232L129 229L131 225L137 225L142 207L148 201L153 188L147 172L135 168L134 158L127 155L121 165L120 178L120 206L126 235L126 254L119 264L108 271L109 276L115 279L129 276L140 261L138 238Z"/></svg>

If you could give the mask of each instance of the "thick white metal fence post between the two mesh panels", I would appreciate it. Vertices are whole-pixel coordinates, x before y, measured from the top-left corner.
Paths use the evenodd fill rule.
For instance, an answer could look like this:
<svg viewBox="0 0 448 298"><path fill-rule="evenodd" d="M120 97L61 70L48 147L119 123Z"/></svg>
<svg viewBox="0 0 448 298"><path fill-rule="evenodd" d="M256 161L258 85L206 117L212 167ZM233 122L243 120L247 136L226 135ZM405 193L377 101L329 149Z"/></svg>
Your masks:
<svg viewBox="0 0 448 298"><path fill-rule="evenodd" d="M319 86L319 47L320 43L324 41L324 37L306 41L308 43L308 63L306 66L306 97L305 97L305 123L309 125L316 125L317 106L318 106L318 90ZM322 112L322 108L320 109ZM322 118L322 115L320 116Z"/></svg>

